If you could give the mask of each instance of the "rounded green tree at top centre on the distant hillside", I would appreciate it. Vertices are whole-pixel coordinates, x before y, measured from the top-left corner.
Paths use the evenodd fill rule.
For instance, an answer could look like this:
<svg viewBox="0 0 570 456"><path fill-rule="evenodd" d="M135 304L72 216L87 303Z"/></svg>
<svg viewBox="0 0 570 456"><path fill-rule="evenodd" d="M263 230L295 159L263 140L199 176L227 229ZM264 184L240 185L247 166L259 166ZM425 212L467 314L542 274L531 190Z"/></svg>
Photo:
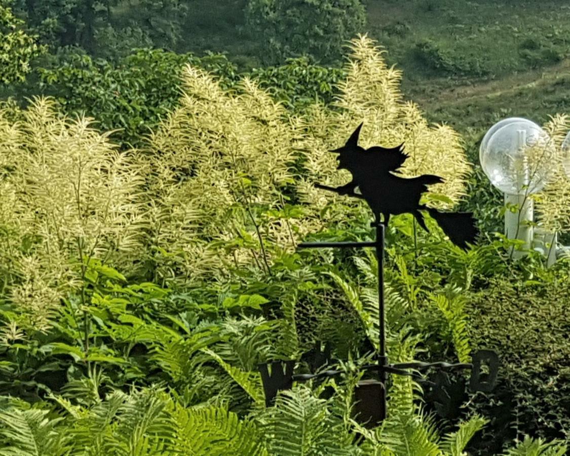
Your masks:
<svg viewBox="0 0 570 456"><path fill-rule="evenodd" d="M363 32L365 18L360 0L249 0L246 6L247 27L262 42L267 63L303 54L338 60L345 42Z"/></svg>

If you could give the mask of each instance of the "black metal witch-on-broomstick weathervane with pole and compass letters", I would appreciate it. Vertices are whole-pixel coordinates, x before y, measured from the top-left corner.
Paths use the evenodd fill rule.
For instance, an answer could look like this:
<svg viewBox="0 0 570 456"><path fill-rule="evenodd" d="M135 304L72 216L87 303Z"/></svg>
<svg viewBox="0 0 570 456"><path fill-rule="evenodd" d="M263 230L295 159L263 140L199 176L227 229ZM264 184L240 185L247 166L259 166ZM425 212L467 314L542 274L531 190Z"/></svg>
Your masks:
<svg viewBox="0 0 570 456"><path fill-rule="evenodd" d="M360 422L376 425L386 417L386 376L388 373L407 375L424 378L407 369L471 369L470 389L472 391L488 392L494 388L498 373L499 359L495 352L481 350L474 353L472 363L449 364L438 363L396 363L389 364L386 356L386 329L384 310L384 232L388 226L390 215L412 214L422 228L427 231L422 211L426 211L450 241L462 249L467 249L469 244L475 243L478 230L475 227L475 219L471 213L441 212L431 207L420 204L422 193L426 192L428 185L441 184L443 178L433 174L406 178L398 176L400 168L408 158L404 153L404 144L396 148L383 148L379 146L364 149L358 145L360 124L349 137L347 143L341 148L331 150L339 154L339 166L337 169L347 169L352 174L352 181L340 187L329 187L316 184L320 189L329 190L340 195L363 198L374 214L374 226L376 227L376 239L366 242L303 242L301 249L336 247L340 249L352 247L374 247L378 263L378 307L380 316L380 331L378 341L377 364L365 365L364 370L376 370L378 381L361 381L356 390L357 418ZM359 190L359 193L356 192ZM381 219L381 216L383 217ZM325 370L315 373L324 365L331 364L330 348L324 351L317 347L312 353L311 359L315 362L311 365L311 374L294 374L294 360L274 361L273 363L260 364L259 370L262 376L263 388L266 397L266 405L273 404L279 390L290 389L294 381L308 381L312 378L336 376L344 373L341 370ZM271 365L271 372L270 367ZM486 368L483 368L486 366ZM453 406L453 399L446 391L450 385L447 374L439 370L435 376L435 382L428 382L433 386L432 397L438 402L438 413L446 414L449 406ZM483 371L487 370L486 373Z"/></svg>

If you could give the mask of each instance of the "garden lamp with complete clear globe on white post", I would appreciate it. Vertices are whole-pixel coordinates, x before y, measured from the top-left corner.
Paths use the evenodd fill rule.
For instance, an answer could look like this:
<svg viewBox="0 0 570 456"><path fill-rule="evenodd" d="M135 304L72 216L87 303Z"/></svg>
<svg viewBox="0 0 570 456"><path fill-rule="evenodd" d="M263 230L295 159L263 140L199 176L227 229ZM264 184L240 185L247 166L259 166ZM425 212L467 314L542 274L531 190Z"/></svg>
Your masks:
<svg viewBox="0 0 570 456"><path fill-rule="evenodd" d="M513 117L489 129L483 137L479 159L491 184L504 194L504 217L508 239L520 239L524 249L532 246L534 205L530 198L548 180L550 157L548 135L534 122ZM513 252L520 258L523 252Z"/></svg>

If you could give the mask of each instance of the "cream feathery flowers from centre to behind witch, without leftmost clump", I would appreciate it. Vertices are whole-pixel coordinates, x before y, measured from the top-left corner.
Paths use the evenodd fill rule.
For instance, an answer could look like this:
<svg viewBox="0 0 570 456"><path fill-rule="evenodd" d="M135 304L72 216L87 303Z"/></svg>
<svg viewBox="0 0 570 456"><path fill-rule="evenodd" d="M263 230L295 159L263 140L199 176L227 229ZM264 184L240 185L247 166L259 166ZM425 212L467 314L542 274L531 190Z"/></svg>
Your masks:
<svg viewBox="0 0 570 456"><path fill-rule="evenodd" d="M335 107L315 104L303 116L291 115L249 79L224 91L213 76L186 68L181 107L150 138L158 276L221 277L230 265L267 272L274 255L292 251L304 235L354 217L355 206L365 210L314 188L348 181L327 150L344 144L361 121L365 147L405 141L406 176L445 178L433 186L445 198L433 205L459 201L471 168L457 133L431 127L402 99L400 72L386 65L372 40L361 36L351 50Z"/></svg>

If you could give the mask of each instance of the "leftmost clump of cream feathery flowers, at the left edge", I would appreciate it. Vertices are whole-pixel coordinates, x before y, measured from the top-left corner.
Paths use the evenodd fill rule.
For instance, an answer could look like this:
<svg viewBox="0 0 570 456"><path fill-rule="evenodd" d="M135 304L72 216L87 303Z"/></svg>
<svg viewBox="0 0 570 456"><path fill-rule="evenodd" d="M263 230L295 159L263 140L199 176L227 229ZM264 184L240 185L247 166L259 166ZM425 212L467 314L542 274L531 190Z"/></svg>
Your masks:
<svg viewBox="0 0 570 456"><path fill-rule="evenodd" d="M80 286L82 257L128 269L141 255L143 175L107 136L46 99L16 124L0 112L1 267L38 329L63 292Z"/></svg>

